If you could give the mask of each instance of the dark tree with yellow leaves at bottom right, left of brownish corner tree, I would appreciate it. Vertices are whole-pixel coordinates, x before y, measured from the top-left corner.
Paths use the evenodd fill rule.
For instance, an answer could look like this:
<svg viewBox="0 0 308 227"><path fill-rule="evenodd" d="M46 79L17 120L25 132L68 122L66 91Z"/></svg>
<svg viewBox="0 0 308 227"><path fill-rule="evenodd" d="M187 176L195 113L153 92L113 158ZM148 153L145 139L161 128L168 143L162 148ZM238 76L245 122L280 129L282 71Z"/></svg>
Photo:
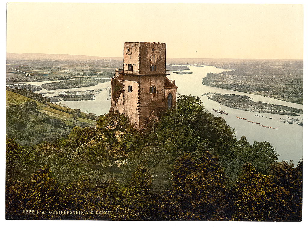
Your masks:
<svg viewBox="0 0 308 227"><path fill-rule="evenodd" d="M243 167L234 188L233 221L282 221L286 208L283 190L272 175L263 175L250 164Z"/></svg>

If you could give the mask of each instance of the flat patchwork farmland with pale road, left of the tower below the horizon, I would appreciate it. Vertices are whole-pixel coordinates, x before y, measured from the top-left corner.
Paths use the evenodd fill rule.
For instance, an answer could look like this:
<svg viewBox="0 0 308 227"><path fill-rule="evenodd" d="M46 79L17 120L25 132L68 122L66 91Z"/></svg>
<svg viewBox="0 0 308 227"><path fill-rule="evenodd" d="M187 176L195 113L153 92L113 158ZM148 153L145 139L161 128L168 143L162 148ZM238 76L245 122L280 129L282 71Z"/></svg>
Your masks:
<svg viewBox="0 0 308 227"><path fill-rule="evenodd" d="M73 78L112 78L121 61L107 60L26 60L7 59L6 84L37 81L67 80Z"/></svg>

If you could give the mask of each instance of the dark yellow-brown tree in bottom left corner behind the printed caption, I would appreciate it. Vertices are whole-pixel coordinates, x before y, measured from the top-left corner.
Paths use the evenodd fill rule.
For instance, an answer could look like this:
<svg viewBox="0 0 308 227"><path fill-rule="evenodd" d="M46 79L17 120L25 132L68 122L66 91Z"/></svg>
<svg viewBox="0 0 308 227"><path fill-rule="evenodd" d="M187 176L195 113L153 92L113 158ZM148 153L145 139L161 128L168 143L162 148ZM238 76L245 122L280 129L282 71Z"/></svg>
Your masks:
<svg viewBox="0 0 308 227"><path fill-rule="evenodd" d="M47 212L42 214L37 211L59 210L60 197L61 189L58 183L50 176L49 168L44 166L32 175L29 183L6 182L6 218L57 218ZM31 210L31 213L27 213L26 210Z"/></svg>

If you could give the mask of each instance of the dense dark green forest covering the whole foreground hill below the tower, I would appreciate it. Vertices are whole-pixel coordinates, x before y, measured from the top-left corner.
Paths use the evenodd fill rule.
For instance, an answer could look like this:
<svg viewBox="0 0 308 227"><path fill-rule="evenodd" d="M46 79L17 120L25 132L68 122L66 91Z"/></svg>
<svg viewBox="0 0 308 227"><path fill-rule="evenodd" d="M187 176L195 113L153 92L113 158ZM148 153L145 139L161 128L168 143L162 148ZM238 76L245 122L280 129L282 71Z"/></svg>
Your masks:
<svg viewBox="0 0 308 227"><path fill-rule="evenodd" d="M144 132L108 113L95 129L40 141L24 128L63 125L25 106L7 110L7 124L29 122L7 131L6 219L302 219L302 161L279 162L269 142L237 140L199 98L181 95Z"/></svg>

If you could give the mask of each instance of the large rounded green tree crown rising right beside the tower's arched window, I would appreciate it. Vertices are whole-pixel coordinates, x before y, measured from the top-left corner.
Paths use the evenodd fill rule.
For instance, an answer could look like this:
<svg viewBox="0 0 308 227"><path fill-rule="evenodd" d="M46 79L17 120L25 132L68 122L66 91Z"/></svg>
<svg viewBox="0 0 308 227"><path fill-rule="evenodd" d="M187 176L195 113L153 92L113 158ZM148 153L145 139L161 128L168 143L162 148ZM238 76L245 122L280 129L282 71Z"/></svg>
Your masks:
<svg viewBox="0 0 308 227"><path fill-rule="evenodd" d="M154 130L157 142L167 139L177 141L178 148L192 152L197 145L208 139L211 145L219 138L225 142L234 141L234 130L221 117L214 117L204 110L200 98L181 95L176 106L169 109Z"/></svg>

